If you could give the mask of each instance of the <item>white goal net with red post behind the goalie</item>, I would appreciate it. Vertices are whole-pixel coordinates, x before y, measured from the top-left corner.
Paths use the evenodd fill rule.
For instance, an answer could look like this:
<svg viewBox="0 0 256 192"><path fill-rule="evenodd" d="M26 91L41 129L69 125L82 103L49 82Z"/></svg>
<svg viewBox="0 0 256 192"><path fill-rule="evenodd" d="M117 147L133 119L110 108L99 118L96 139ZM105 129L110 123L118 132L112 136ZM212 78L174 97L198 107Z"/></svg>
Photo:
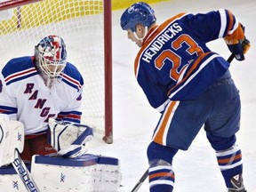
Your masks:
<svg viewBox="0 0 256 192"><path fill-rule="evenodd" d="M34 55L48 35L61 36L68 61L84 76L82 124L113 142L111 0L0 0L0 68Z"/></svg>

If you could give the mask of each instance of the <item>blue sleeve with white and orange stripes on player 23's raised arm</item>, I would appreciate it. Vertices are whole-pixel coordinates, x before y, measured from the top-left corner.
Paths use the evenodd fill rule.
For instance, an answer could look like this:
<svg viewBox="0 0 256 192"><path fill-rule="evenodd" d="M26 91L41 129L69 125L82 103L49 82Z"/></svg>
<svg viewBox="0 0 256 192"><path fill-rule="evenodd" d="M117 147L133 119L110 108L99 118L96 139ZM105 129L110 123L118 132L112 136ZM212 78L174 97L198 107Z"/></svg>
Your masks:
<svg viewBox="0 0 256 192"><path fill-rule="evenodd" d="M205 43L233 34L236 36L240 31L236 16L225 9L196 15L189 14L183 20L188 24L191 33Z"/></svg>

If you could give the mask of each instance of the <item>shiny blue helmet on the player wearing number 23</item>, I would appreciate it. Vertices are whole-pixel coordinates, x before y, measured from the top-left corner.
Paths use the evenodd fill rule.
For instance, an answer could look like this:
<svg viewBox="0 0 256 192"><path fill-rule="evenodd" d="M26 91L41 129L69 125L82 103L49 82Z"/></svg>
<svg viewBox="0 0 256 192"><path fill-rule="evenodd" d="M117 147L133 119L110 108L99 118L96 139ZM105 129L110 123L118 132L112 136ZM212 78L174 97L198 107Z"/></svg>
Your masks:
<svg viewBox="0 0 256 192"><path fill-rule="evenodd" d="M132 6L124 11L121 16L120 25L123 30L131 29L132 32L135 32L138 24L149 27L154 22L156 22L154 10L148 4L138 2L132 4Z"/></svg>

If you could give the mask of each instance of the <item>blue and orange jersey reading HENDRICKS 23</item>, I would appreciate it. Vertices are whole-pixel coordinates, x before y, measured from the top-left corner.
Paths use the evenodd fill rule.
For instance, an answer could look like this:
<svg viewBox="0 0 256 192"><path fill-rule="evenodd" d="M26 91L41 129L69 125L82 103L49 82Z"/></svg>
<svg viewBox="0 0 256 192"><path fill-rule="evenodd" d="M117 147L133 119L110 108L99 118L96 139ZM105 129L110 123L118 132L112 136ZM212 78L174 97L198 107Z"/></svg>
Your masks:
<svg viewBox="0 0 256 192"><path fill-rule="evenodd" d="M235 16L224 9L196 15L180 13L152 28L134 64L150 105L163 111L169 100L191 100L205 92L229 67L206 43L236 36L238 28Z"/></svg>

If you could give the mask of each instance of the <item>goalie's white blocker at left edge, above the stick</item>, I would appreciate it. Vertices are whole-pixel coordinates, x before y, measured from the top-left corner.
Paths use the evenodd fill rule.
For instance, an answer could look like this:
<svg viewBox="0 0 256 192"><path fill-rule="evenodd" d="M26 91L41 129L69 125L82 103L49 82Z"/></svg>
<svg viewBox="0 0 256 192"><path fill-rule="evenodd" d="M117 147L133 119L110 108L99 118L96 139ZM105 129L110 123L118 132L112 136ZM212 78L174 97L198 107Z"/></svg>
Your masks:
<svg viewBox="0 0 256 192"><path fill-rule="evenodd" d="M14 150L21 153L24 148L24 126L8 116L0 116L0 166L14 161Z"/></svg>

